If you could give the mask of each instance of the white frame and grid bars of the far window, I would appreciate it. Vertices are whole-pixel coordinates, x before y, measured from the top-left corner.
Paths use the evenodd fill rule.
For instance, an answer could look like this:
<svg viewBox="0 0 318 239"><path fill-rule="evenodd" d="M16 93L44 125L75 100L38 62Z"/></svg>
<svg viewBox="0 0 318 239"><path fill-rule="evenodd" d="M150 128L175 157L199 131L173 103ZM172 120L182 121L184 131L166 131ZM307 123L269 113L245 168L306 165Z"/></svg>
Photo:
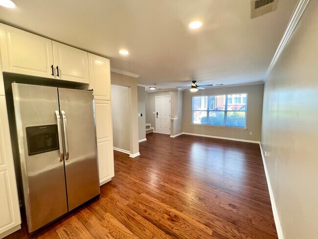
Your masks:
<svg viewBox="0 0 318 239"><path fill-rule="evenodd" d="M241 111L241 110L228 110L227 106L228 105L234 105L233 104L233 98L234 97L230 97L232 98L232 103L227 105L227 99L229 95L241 95L241 102L243 102L243 96L246 94L246 104L245 104L245 111ZM207 96L207 106L206 106L206 110L193 110L193 97L198 97L197 96L192 96L192 103L191 103L191 124L193 125L199 125L199 126L209 126L209 127L226 127L226 128L236 128L236 129L247 129L246 128L246 119L247 119L247 110L248 110L248 93L229 93L229 94L219 94L219 95L202 95L200 97L203 96ZM208 97L209 96L225 96L225 109L224 110L209 110L210 106L208 105ZM235 100L235 104L236 104L236 100ZM194 118L193 118L193 112L195 111L205 111L206 112L206 124L203 123L194 123ZM209 122L209 112L224 112L224 124L223 125L214 125L214 124L208 124ZM245 119L244 119L244 126L227 126L226 122L227 122L227 112L245 112Z"/></svg>

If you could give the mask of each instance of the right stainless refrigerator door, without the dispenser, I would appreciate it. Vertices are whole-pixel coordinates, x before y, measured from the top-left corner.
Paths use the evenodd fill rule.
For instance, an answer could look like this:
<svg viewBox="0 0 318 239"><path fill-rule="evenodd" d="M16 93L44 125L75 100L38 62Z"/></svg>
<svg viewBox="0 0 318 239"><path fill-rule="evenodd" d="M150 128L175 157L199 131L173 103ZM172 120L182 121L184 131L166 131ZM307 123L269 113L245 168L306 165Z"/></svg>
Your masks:
<svg viewBox="0 0 318 239"><path fill-rule="evenodd" d="M94 101L91 91L59 88L68 210L99 194Z"/></svg>

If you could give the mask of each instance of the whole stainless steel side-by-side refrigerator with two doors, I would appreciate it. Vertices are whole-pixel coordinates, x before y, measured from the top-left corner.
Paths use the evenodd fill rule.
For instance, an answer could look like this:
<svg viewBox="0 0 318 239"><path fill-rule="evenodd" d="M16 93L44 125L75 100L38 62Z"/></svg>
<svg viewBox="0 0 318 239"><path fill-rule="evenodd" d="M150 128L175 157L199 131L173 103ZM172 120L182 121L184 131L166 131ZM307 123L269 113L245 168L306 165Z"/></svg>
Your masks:
<svg viewBox="0 0 318 239"><path fill-rule="evenodd" d="M31 233L98 196L91 91L12 83Z"/></svg>

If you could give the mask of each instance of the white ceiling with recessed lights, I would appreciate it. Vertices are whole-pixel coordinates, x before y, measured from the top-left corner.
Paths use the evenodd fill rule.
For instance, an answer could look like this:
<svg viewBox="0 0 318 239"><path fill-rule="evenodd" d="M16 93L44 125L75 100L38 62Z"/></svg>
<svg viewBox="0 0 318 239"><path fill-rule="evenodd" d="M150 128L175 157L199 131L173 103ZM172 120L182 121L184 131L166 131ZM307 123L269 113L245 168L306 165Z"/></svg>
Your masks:
<svg viewBox="0 0 318 239"><path fill-rule="evenodd" d="M0 22L111 59L158 88L261 81L297 0L250 19L250 0L15 0ZM203 26L190 29L191 21ZM127 49L122 56L118 50Z"/></svg>

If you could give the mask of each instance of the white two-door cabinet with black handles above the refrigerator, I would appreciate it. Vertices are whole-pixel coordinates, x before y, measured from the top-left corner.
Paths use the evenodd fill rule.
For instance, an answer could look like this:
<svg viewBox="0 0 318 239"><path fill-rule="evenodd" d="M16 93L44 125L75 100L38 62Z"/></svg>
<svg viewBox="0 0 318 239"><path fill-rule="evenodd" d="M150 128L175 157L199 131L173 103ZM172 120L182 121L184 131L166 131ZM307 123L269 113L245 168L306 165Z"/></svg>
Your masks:
<svg viewBox="0 0 318 239"><path fill-rule="evenodd" d="M87 51L5 24L0 24L0 53L3 72L90 83Z"/></svg>

